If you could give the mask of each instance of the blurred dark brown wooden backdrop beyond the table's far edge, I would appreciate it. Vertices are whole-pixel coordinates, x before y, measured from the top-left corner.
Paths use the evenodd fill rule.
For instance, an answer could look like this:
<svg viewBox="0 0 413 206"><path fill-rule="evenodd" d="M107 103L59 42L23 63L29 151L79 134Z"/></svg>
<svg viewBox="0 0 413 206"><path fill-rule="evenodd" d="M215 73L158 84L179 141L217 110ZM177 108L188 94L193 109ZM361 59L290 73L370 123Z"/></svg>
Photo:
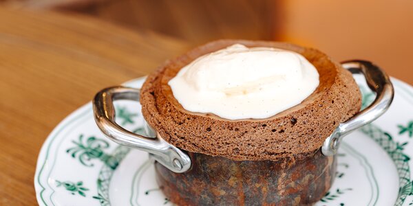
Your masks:
<svg viewBox="0 0 413 206"><path fill-rule="evenodd" d="M200 44L216 38L273 39L280 1L5 0L12 8L72 11ZM1 0L0 0L1 5Z"/></svg>

